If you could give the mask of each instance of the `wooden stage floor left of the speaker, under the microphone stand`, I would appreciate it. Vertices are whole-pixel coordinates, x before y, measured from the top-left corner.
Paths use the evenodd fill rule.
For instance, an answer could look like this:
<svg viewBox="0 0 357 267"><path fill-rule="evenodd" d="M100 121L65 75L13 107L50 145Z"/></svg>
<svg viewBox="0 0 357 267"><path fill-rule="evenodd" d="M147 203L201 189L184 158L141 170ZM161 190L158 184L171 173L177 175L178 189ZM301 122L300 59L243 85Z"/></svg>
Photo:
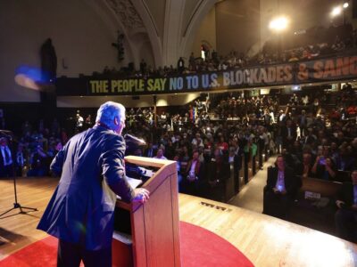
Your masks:
<svg viewBox="0 0 357 267"><path fill-rule="evenodd" d="M4 256L47 237L46 232L36 229L49 199L58 184L55 178L21 178L17 183L18 201L22 206L36 207L36 212L18 214L20 209L5 214L0 219L0 260ZM13 207L12 180L0 180L0 214ZM24 209L26 211L26 209Z"/></svg>

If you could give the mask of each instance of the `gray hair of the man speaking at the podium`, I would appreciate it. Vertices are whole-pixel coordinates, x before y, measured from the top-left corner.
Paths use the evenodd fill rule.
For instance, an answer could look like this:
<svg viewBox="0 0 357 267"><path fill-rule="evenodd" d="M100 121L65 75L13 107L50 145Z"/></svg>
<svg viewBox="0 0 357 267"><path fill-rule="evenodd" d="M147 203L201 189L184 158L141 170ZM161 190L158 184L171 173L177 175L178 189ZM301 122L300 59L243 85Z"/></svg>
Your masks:
<svg viewBox="0 0 357 267"><path fill-rule="evenodd" d="M99 107L96 112L95 122L101 122L111 129L115 128L114 117L118 117L119 121L125 119L125 107L120 103L107 101Z"/></svg>

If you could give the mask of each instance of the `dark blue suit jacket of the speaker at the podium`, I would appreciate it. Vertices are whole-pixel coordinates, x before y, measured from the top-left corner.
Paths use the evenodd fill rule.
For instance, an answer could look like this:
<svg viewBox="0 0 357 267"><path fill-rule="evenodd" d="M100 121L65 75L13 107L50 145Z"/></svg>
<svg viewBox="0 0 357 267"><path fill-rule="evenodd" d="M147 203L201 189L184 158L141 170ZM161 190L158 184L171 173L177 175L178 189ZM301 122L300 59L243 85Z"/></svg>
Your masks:
<svg viewBox="0 0 357 267"><path fill-rule="evenodd" d="M134 198L124 153L124 139L103 126L73 136L51 164L61 180L37 229L87 250L110 247L116 194Z"/></svg>

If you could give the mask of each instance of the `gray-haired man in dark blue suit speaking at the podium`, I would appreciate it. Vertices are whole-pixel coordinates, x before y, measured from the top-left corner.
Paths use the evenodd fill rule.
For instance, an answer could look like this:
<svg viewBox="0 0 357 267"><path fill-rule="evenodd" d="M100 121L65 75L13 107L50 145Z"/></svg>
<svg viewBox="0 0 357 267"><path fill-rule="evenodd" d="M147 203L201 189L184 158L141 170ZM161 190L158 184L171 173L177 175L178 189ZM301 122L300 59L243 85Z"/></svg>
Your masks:
<svg viewBox="0 0 357 267"><path fill-rule="evenodd" d="M144 203L125 175L125 108L112 101L97 111L95 126L77 134L51 164L61 180L37 228L59 239L57 266L112 266L116 195Z"/></svg>

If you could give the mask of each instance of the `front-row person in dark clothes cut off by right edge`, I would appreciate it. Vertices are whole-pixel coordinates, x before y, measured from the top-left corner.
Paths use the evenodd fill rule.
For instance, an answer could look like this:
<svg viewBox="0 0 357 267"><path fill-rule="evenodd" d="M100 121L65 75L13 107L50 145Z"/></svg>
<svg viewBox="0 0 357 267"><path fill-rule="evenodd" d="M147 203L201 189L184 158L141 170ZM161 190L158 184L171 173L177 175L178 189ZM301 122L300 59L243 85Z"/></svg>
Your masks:
<svg viewBox="0 0 357 267"><path fill-rule="evenodd" d="M357 170L353 170L351 180L344 182L337 194L335 222L341 239L357 243Z"/></svg>

